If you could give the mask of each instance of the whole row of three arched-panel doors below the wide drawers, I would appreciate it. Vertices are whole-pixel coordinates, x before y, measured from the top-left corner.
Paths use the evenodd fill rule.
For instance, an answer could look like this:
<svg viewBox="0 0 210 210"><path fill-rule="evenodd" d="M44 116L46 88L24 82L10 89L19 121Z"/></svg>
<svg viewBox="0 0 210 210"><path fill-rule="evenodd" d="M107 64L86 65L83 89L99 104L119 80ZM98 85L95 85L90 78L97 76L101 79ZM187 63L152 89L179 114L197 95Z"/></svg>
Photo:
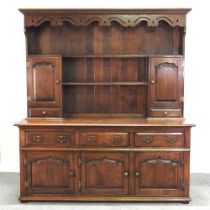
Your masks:
<svg viewBox="0 0 210 210"><path fill-rule="evenodd" d="M189 160L185 154L26 152L23 158L26 194L186 196L185 172Z"/></svg>

